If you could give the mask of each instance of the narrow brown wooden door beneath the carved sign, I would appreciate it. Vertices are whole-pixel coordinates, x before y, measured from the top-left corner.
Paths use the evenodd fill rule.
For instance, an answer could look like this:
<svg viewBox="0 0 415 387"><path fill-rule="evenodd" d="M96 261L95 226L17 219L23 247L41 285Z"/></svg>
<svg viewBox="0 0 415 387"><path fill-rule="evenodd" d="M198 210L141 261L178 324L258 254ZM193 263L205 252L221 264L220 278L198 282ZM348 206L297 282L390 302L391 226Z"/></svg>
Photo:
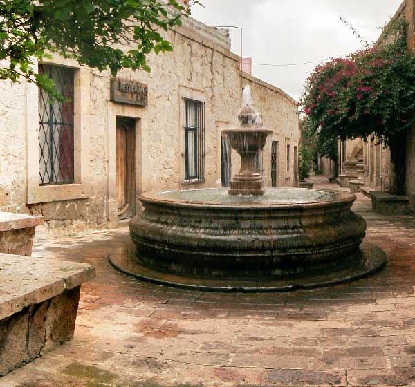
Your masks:
<svg viewBox="0 0 415 387"><path fill-rule="evenodd" d="M134 120L117 118L118 220L135 215L135 126Z"/></svg>

